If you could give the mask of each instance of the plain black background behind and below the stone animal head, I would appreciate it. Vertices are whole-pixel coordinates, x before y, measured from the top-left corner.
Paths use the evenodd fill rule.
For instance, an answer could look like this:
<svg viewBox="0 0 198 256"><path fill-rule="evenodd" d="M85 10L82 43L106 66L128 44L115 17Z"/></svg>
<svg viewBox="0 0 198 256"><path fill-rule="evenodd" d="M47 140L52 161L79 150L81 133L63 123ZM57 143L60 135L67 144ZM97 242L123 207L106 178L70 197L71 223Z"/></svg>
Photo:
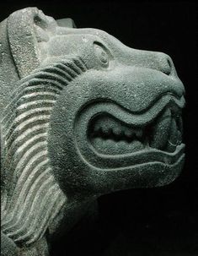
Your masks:
<svg viewBox="0 0 198 256"><path fill-rule="evenodd" d="M105 30L127 46L169 54L186 89L186 161L181 176L163 188L132 189L101 197L99 218L54 242L52 255L197 256L197 4L3 1L0 19L28 6L36 6L55 19L71 17L78 28Z"/></svg>

